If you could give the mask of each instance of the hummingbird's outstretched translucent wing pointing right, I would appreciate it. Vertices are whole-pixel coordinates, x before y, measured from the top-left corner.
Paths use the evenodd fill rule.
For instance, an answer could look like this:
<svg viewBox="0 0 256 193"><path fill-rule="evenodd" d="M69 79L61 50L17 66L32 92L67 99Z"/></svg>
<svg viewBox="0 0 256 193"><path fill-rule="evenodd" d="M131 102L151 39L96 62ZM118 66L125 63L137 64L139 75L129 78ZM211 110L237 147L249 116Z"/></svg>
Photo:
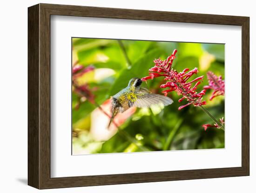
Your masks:
<svg viewBox="0 0 256 193"><path fill-rule="evenodd" d="M133 107L150 107L152 104L162 103L167 106L173 103L173 100L168 96L163 96L154 93L139 92L137 94L135 102L132 104Z"/></svg>

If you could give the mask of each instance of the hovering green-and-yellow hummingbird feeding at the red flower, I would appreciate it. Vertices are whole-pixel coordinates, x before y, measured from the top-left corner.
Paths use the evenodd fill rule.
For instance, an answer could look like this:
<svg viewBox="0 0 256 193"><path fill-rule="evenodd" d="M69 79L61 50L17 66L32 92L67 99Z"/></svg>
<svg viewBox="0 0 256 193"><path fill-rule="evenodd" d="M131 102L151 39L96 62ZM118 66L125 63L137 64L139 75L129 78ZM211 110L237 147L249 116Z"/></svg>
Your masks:
<svg viewBox="0 0 256 193"><path fill-rule="evenodd" d="M112 116L110 123L118 113L122 113L130 107L150 107L152 104L162 103L167 106L173 103L168 96L151 93L148 89L141 87L140 78L130 79L128 86L111 97Z"/></svg>

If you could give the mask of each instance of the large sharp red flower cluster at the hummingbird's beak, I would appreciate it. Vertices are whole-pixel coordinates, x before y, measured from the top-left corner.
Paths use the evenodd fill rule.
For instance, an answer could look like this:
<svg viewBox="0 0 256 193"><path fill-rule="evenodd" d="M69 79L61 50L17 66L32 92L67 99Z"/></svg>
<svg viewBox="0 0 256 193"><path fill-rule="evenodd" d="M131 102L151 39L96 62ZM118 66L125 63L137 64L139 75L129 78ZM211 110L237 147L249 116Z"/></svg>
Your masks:
<svg viewBox="0 0 256 193"><path fill-rule="evenodd" d="M146 81L147 79L153 79L155 77L164 77L164 80L167 82L162 84L161 88L168 88L168 90L164 90L162 92L167 95L168 92L176 91L178 95L183 96L179 102L182 102L184 99L188 101L187 104L180 106L179 110L189 106L190 104L194 106L201 106L206 104L205 101L202 101L202 96L205 94L206 90L202 90L199 93L195 91L198 84L201 83L199 80L202 80L203 76L197 77L194 80L187 82L192 75L197 74L197 68L193 69L192 71L189 71L188 68L185 68L182 72L177 72L176 70L172 69L172 63L175 59L176 52L177 50L174 50L173 54L166 60L154 60L155 66L149 69L150 76L143 77L141 80ZM192 86L192 83L194 82L196 83L194 86Z"/></svg>

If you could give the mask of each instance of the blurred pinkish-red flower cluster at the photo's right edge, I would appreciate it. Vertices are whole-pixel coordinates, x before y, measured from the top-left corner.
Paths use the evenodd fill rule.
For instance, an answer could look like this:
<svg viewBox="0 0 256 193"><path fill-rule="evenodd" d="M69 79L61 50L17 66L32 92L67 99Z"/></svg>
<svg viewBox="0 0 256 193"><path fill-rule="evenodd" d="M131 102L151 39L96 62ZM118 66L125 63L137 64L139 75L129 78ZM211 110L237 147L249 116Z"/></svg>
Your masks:
<svg viewBox="0 0 256 193"><path fill-rule="evenodd" d="M215 98L216 96L220 96L225 94L225 82L222 80L222 76L217 77L213 72L207 72L207 77L209 81L208 86L204 86L204 89L212 89L214 90L210 100Z"/></svg>

